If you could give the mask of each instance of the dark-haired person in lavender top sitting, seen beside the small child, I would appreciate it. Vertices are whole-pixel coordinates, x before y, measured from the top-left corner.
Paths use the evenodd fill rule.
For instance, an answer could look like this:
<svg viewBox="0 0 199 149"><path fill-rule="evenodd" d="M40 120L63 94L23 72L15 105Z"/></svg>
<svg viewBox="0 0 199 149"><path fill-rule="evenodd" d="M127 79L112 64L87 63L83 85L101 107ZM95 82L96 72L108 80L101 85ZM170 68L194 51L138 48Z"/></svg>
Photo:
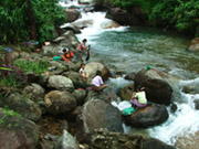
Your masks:
<svg viewBox="0 0 199 149"><path fill-rule="evenodd" d="M107 84L104 84L102 79L102 72L97 71L96 76L92 79L92 89L95 92L101 92L107 87Z"/></svg>

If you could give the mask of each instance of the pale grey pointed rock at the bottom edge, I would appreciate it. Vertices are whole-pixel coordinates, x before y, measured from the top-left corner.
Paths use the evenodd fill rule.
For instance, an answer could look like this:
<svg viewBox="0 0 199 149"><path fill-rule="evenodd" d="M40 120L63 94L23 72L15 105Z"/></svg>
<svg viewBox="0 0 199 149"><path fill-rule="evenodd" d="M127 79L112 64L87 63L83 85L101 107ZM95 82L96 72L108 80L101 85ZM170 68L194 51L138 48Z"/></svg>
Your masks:
<svg viewBox="0 0 199 149"><path fill-rule="evenodd" d="M78 149L78 143L76 139L66 130L55 142L54 149Z"/></svg>

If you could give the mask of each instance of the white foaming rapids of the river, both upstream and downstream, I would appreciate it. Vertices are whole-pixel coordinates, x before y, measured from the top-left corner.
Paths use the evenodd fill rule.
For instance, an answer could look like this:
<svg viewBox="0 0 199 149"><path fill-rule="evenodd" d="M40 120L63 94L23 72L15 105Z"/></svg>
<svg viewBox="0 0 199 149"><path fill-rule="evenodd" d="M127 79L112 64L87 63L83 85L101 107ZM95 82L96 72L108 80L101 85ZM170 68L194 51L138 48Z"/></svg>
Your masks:
<svg viewBox="0 0 199 149"><path fill-rule="evenodd" d="M60 2L63 7L70 7L70 6L76 6L80 7L77 1L72 1L69 3ZM117 29L102 29L101 24L103 22L111 21L108 19L105 19L105 12L82 12L82 18L80 20L93 20L93 25L85 28L82 31L81 34L77 34L77 38L80 41L83 39L87 39L88 43L92 46L95 46L97 43L97 39L100 34L103 34L105 32L124 32L128 26L121 26ZM78 21L80 21L78 20ZM117 40L119 36L117 38ZM119 42L119 40L118 40ZM123 53L121 53L123 55ZM169 72L170 74L175 73L174 71ZM130 82L125 81L123 77L119 78L111 78L108 81L108 84L111 86L114 86L114 88L122 88L123 86L129 84ZM142 129L137 130L140 132L147 132L150 137L160 139L169 145L175 145L176 139L180 136L185 137L186 134L195 134L199 130L199 111L195 109L195 99L199 99L199 94L191 95L191 94L185 94L181 92L182 86L189 85L189 84L198 84L199 85L199 77L195 79L189 81L180 81L179 85L179 92L181 94L180 99L181 102L175 102L178 109L176 113L170 113L170 107L167 107L169 111L169 118L166 123L150 127L148 129ZM113 105L118 107L119 109L124 109L125 107L130 106L128 102L113 102ZM130 127L127 127L124 125L125 132L133 131Z"/></svg>

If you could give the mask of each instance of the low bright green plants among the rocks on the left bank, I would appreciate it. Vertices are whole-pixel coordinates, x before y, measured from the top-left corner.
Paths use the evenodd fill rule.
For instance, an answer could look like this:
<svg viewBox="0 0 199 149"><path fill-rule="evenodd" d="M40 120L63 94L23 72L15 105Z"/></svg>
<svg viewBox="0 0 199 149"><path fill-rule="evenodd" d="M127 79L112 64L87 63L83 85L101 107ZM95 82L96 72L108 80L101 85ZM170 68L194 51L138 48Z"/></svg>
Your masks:
<svg viewBox="0 0 199 149"><path fill-rule="evenodd" d="M25 73L34 72L35 74L41 74L44 71L48 71L50 66L46 61L25 61L25 60L17 60L14 65L22 68Z"/></svg>

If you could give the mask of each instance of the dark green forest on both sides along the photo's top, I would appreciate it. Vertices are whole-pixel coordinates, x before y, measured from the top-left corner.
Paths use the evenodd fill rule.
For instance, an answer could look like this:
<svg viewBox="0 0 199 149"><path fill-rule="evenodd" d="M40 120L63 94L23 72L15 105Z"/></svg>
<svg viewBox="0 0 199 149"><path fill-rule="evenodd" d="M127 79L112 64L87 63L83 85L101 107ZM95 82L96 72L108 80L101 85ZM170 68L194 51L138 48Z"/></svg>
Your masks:
<svg viewBox="0 0 199 149"><path fill-rule="evenodd" d="M36 40L41 44L55 36L55 29L66 22L59 0L0 1L0 44ZM154 26L169 26L180 33L199 35L198 0L95 0L96 4L132 11L139 7Z"/></svg>

